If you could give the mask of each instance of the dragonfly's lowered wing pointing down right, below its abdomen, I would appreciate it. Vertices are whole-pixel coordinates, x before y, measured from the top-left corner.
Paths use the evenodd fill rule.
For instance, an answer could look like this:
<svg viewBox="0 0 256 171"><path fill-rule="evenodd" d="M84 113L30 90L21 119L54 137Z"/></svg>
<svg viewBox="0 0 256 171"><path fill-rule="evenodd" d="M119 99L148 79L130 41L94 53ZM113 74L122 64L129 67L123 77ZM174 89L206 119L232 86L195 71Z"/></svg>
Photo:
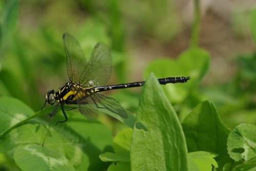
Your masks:
<svg viewBox="0 0 256 171"><path fill-rule="evenodd" d="M98 94L98 93L93 93L91 94L93 101L100 105L102 105L104 108L110 110L111 112L114 112L124 118L127 118L127 113L125 112L125 110L123 109L123 107L120 105L120 103L118 101L116 101L115 99L113 99L112 97L107 97L104 96L102 94ZM99 107L99 106L97 106Z"/></svg>

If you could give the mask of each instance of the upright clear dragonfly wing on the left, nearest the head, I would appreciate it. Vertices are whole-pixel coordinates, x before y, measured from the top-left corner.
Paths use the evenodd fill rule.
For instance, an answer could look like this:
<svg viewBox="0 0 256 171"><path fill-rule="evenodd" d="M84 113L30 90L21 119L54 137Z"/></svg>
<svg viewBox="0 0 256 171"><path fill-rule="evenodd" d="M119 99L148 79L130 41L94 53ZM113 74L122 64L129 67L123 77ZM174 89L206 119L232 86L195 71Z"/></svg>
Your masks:
<svg viewBox="0 0 256 171"><path fill-rule="evenodd" d="M67 71L70 81L77 83L86 68L86 58L78 41L68 33L63 34L63 44L67 56Z"/></svg>

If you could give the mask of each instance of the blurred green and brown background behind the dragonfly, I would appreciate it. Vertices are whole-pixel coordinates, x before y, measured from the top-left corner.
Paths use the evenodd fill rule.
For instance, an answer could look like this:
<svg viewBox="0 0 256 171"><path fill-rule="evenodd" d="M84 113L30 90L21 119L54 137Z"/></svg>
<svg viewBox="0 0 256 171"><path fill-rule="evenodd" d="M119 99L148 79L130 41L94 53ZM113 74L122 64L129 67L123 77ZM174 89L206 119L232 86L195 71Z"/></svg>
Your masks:
<svg viewBox="0 0 256 171"><path fill-rule="evenodd" d="M113 68L109 85L143 81L154 68L161 70L158 61L164 59L172 60L168 67L174 71L157 77L191 74L192 83L189 65L201 61L178 63L175 59L199 46L210 54L211 61L202 81L190 86L189 92L184 93L187 85L176 84L183 86L182 91L166 93L181 121L199 102L209 100L229 128L255 124L255 4L201 1L195 8L195 2L199 1L1 0L0 96L16 97L39 111L45 93L68 81L62 43L65 32L78 40L88 59L97 42L110 45ZM105 94L136 112L140 90ZM100 120L114 127L111 118L101 115Z"/></svg>

